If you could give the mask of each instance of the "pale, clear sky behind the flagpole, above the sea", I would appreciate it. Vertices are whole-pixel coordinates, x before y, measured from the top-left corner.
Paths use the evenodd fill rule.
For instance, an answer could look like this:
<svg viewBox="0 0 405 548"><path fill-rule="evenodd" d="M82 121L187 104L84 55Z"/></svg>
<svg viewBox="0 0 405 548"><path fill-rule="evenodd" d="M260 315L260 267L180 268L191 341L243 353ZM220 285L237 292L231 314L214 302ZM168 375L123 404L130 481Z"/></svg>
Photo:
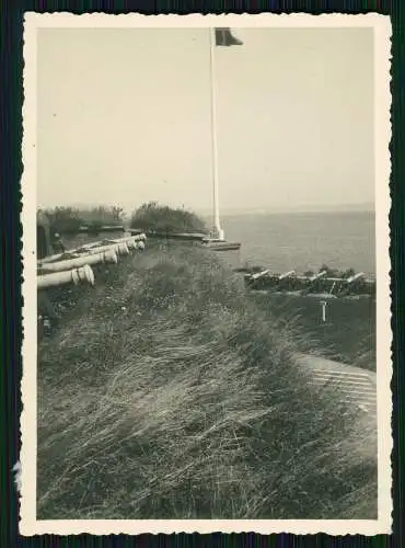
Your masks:
<svg viewBox="0 0 405 548"><path fill-rule="evenodd" d="M372 28L216 48L222 212L374 202ZM212 206L208 28L39 28L37 202Z"/></svg>

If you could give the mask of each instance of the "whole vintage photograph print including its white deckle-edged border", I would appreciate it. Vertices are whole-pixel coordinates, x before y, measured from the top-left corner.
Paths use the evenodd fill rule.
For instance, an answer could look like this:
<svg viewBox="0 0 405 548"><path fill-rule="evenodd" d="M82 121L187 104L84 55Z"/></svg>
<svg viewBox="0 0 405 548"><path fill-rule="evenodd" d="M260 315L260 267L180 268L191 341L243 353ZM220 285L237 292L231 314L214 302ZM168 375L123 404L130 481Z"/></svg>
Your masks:
<svg viewBox="0 0 405 548"><path fill-rule="evenodd" d="M390 533L390 36L26 14L23 534Z"/></svg>

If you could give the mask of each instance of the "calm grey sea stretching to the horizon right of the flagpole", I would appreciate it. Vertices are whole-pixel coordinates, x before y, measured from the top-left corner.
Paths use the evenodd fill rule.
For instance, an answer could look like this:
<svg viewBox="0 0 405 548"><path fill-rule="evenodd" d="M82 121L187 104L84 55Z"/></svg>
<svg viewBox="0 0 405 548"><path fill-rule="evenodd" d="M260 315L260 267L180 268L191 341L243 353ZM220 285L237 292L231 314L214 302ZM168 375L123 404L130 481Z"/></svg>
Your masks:
<svg viewBox="0 0 405 548"><path fill-rule="evenodd" d="M238 261L274 273L354 269L375 276L373 212L225 215L229 241L241 242Z"/></svg>

